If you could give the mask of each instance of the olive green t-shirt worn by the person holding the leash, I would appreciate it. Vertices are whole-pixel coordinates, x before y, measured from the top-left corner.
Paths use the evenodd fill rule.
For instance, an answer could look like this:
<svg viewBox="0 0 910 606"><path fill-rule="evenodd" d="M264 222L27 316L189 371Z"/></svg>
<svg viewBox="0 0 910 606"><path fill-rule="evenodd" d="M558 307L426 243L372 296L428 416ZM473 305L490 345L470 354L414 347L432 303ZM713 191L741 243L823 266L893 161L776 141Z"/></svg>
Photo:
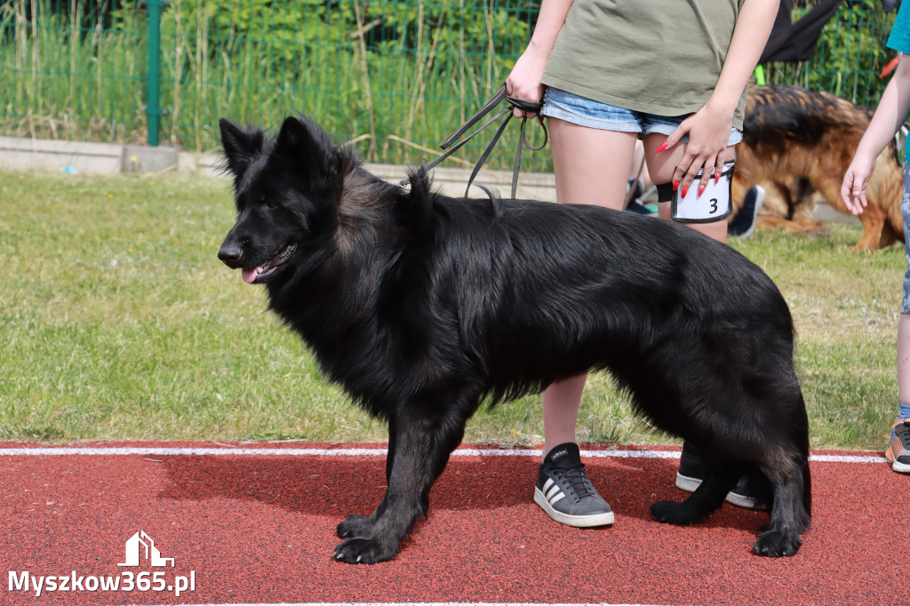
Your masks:
<svg viewBox="0 0 910 606"><path fill-rule="evenodd" d="M574 0L543 84L658 116L701 109L743 0ZM742 130L745 92L733 115Z"/></svg>

